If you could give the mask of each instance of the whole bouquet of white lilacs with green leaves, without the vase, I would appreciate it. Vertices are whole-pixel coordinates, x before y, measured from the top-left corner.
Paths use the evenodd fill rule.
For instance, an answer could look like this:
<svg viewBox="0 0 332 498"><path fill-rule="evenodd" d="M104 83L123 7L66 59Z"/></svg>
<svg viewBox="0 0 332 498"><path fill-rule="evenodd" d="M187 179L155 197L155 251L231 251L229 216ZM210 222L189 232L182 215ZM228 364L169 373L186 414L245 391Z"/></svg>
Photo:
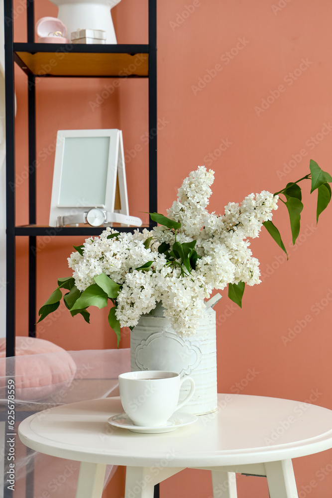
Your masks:
<svg viewBox="0 0 332 498"><path fill-rule="evenodd" d="M315 161L311 173L312 191L318 189L317 220L331 199L332 177ZM200 166L178 190L165 217L150 213L161 226L151 231L119 233L110 227L100 237L90 238L68 258L71 277L58 279L58 287L40 308L40 320L55 311L64 297L72 316L83 315L89 322L89 306L104 308L111 301L109 323L118 341L120 327L137 325L141 315L158 302L164 316L180 335L195 333L203 316L204 299L214 289L228 285L228 296L241 306L245 284L260 283L259 262L252 256L249 238L259 236L262 226L286 252L272 211L279 194L285 196L290 215L293 243L300 231L301 188L288 183L277 194L262 191L248 195L241 205L231 202L223 215L209 213L214 172ZM67 289L62 296L61 289Z"/></svg>

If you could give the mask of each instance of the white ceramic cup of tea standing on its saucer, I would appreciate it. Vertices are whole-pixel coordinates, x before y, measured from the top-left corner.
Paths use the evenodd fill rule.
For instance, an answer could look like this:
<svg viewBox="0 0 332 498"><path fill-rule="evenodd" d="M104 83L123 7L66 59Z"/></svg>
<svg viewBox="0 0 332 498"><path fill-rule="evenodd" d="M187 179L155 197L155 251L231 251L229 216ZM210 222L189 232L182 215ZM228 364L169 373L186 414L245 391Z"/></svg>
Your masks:
<svg viewBox="0 0 332 498"><path fill-rule="evenodd" d="M194 380L188 376L181 379L175 372L127 372L121 373L118 378L123 409L140 427L166 425L170 416L195 392ZM186 381L191 383L191 389L188 396L178 403L180 387Z"/></svg>

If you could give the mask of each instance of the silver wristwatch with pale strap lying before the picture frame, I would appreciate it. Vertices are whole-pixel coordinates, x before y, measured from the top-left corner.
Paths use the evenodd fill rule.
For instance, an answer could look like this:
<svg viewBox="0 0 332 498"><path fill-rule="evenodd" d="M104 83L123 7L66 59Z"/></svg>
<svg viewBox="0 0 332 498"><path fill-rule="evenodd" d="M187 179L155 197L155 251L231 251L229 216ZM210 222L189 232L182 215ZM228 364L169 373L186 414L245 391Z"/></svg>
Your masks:
<svg viewBox="0 0 332 498"><path fill-rule="evenodd" d="M58 227L76 225L77 223L89 224L91 227L102 227L109 223L121 223L122 225L132 225L134 227L142 225L142 220L136 216L111 213L100 208L92 208L89 211L76 215L58 216L57 221Z"/></svg>

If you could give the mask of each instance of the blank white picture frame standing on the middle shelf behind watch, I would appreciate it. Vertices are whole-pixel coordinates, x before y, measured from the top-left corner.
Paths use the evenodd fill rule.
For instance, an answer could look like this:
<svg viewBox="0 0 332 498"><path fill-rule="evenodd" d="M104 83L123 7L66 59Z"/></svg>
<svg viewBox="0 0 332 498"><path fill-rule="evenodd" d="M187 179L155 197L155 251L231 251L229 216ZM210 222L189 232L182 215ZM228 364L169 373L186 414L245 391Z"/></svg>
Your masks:
<svg viewBox="0 0 332 498"><path fill-rule="evenodd" d="M129 215L122 131L58 130L49 225L94 207Z"/></svg>

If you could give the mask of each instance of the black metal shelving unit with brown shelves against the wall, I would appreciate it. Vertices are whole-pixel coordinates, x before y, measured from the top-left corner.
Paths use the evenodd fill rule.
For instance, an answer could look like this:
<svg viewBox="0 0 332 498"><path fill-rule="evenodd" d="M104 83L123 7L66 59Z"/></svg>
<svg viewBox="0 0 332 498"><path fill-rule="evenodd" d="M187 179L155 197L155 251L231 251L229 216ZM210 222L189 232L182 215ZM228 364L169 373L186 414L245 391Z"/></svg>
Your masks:
<svg viewBox="0 0 332 498"><path fill-rule="evenodd" d="M94 236L103 228L52 227L36 225L36 78L148 78L149 108L149 211L157 211L157 0L148 0L148 44L73 45L34 43L34 3L27 2L27 43L13 42L12 0L4 1L5 37L5 107L6 107L6 356L15 355L15 239L29 237L29 336L35 337L36 323L36 238L52 231L56 236ZM11 19L11 22L8 22ZM61 57L59 57L59 54ZM142 64L130 70L134 56L142 57ZM51 66L50 59L57 60ZM29 157L29 225L15 225L15 112L14 63L28 78L28 157ZM45 64L49 70L45 72ZM129 67L129 74L119 68ZM120 72L120 74L119 74ZM155 226L150 222L149 227ZM119 227L121 231L134 228Z"/></svg>

